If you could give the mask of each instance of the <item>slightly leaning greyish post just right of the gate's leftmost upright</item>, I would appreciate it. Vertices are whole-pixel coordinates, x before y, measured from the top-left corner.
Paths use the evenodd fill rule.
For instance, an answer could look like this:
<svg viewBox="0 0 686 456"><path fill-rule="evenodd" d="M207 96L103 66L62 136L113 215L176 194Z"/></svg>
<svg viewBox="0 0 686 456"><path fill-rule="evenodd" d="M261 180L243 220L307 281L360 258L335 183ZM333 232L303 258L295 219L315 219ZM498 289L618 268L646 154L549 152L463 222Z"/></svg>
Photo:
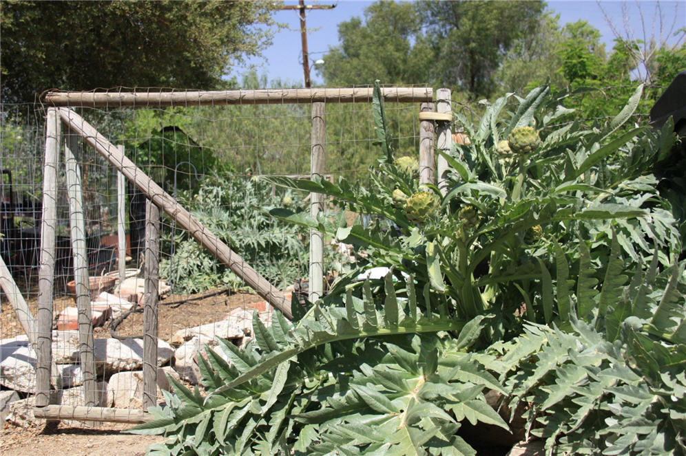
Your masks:
<svg viewBox="0 0 686 456"><path fill-rule="evenodd" d="M76 283L76 307L79 310L79 354L83 371L83 392L87 406L98 405L96 392L97 376L93 342L93 313L90 307L90 286L88 283L88 255L85 240L85 217L83 215L83 194L81 191L81 170L76 162L76 148L79 138L66 135L64 158L69 196L69 224L74 256L74 282Z"/></svg>

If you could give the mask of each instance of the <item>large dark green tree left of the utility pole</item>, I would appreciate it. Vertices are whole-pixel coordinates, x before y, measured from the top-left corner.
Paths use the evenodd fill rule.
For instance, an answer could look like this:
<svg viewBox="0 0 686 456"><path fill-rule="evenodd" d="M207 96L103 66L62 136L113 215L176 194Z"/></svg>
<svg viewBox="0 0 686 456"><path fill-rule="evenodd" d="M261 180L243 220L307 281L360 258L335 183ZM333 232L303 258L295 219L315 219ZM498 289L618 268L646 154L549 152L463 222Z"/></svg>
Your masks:
<svg viewBox="0 0 686 456"><path fill-rule="evenodd" d="M259 1L3 1L1 99L51 88L201 87L225 83L233 61L271 32Z"/></svg>

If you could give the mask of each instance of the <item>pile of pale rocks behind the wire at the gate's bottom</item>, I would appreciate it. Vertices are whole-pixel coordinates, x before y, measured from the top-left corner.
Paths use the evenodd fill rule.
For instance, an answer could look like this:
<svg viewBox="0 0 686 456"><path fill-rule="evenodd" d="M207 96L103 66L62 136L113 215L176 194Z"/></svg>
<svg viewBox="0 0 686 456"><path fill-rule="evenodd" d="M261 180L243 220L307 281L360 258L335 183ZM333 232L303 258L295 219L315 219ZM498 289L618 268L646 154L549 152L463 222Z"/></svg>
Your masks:
<svg viewBox="0 0 686 456"><path fill-rule="evenodd" d="M118 299L118 298L117 298ZM118 301L122 304L121 301ZM251 305L253 306L253 305ZM116 307L116 306L114 306ZM216 347L216 338L245 345L253 334L253 312L258 311L264 325L271 324L271 311L266 303L256 308L234 309L226 318L214 323L181 329L169 340L158 341L158 402L161 390L169 389L167 376L188 384L199 384L202 377L198 354L205 356L205 345ZM130 307L129 307L130 308ZM125 312L125 305L110 312ZM230 363L222 349L216 353ZM94 357L98 374L100 406L141 409L143 398L143 339L95 339ZM54 384L53 404L83 405L83 371L79 365L79 332L53 331L52 358L58 378ZM32 424L32 397L36 390L36 354L26 336L0 340L0 426L4 420L19 426Z"/></svg>

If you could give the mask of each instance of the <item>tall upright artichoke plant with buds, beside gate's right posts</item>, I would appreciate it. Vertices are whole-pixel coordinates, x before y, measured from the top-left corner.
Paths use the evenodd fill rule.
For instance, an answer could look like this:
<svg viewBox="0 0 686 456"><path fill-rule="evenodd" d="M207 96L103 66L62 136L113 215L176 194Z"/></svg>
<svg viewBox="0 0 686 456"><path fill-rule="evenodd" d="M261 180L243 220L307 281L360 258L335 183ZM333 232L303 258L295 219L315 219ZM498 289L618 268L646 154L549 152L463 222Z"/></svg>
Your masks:
<svg viewBox="0 0 686 456"><path fill-rule="evenodd" d="M378 170L371 173L371 188L344 178L337 183L269 178L274 184L329 195L341 207L369 215L370 224L345 226L287 208L272 214L353 244L366 252L363 267L392 265L412 274L419 287L430 285L435 305L447 299L459 318L512 314L523 301L528 321L565 321L567 313L550 305L550 290L541 284L556 277L548 268L559 256L557 250L570 256L570 264L582 261L576 232L599 248L594 263L609 256L613 229L634 263L652 256L646 239L656 239L663 265L678 248L669 204L658 194L658 180L651 173L656 156L674 144L674 134L623 127L640 96L639 87L621 113L592 127L568 120L572 110L560 105L561 98L548 87L524 98L504 96L488 106L476 125L456 113L470 144L456 144L450 153L439 151L450 165L446 195L431 184L420 186L414 175L389 160L386 148ZM383 111L376 118L379 133ZM499 142L530 124L536 125L541 144L503 157ZM383 145L386 135L379 133L379 140ZM440 197L441 204L421 219L404 210L407 203L397 204L401 194L409 201L410 195L429 193ZM465 208L475 214L461 217ZM494 338L512 334L517 325L511 323L497 320Z"/></svg>

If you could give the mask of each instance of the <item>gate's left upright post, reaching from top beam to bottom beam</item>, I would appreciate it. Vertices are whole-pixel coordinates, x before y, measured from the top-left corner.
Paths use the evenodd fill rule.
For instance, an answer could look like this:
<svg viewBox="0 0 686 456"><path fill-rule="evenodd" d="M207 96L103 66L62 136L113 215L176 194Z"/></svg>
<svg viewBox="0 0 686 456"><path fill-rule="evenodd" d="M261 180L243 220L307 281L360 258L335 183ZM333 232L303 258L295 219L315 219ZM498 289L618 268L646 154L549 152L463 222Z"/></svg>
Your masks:
<svg viewBox="0 0 686 456"><path fill-rule="evenodd" d="M61 122L56 108L48 108L45 119L45 160L43 162L43 214L41 217L41 262L38 272L38 312L36 350L36 405L50 404L52 366L52 285L55 268L57 228L57 166Z"/></svg>

